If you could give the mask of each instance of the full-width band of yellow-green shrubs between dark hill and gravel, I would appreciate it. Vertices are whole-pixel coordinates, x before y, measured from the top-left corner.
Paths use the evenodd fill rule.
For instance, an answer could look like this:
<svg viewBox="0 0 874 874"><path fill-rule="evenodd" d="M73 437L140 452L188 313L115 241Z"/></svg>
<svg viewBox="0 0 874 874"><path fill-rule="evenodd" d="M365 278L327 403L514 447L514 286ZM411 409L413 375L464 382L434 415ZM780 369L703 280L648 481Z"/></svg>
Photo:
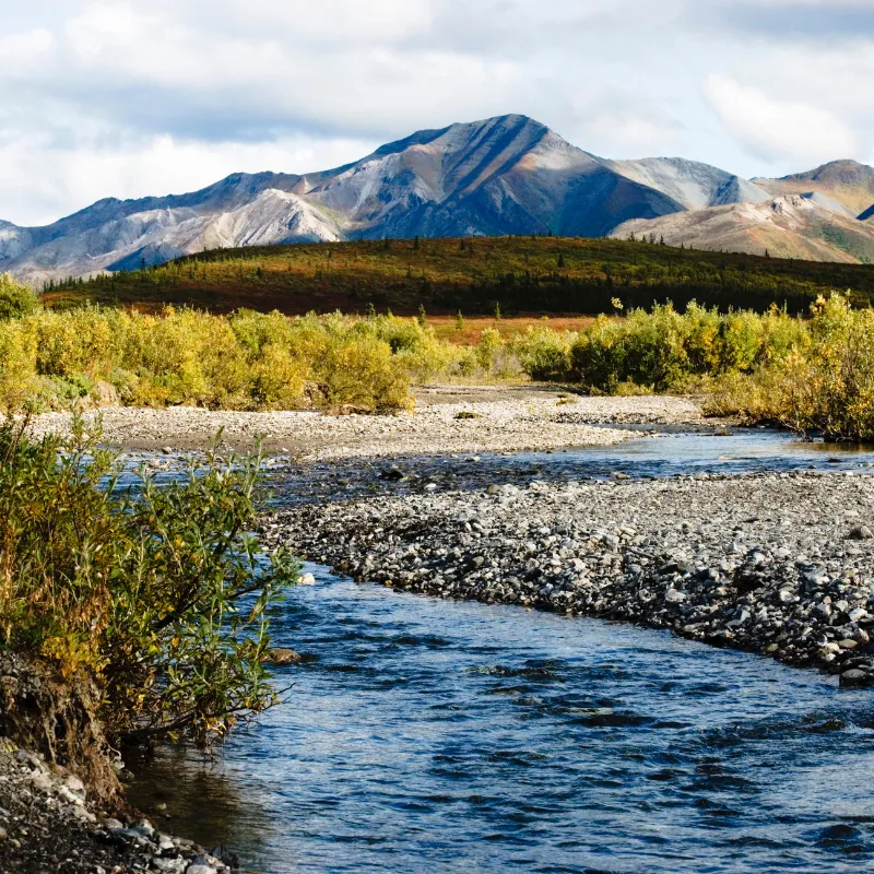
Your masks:
<svg viewBox="0 0 874 874"><path fill-rule="evenodd" d="M186 263L197 272L227 262L189 259L142 275L185 276ZM438 331L423 304L414 317L377 312L373 303L355 316L213 314L84 297L50 307L5 277L0 404L391 411L412 405L414 383L527 379L597 393L692 392L713 413L841 440L873 439L874 311L859 288L822 288L814 296L817 288L805 286L807 304L798 314L776 299L761 311L695 300L681 310L657 303L652 288L648 308L629 307L615 292L610 311L577 330L556 330L547 317L517 321L524 328L508 332L501 304L493 302L491 321L471 343L461 310L454 330L444 323Z"/></svg>

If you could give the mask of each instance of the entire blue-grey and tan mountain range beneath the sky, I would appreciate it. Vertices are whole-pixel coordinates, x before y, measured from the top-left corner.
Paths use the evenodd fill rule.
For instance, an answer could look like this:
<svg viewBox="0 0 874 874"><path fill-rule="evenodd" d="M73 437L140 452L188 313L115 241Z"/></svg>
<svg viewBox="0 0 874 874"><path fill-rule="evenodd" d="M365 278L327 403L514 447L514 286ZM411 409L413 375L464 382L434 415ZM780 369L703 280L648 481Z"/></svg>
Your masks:
<svg viewBox="0 0 874 874"><path fill-rule="evenodd" d="M545 233L867 263L874 169L837 161L743 179L684 158L611 161L525 116L500 116L418 131L322 173L107 198L43 227L0 221L0 271L40 284L220 247Z"/></svg>

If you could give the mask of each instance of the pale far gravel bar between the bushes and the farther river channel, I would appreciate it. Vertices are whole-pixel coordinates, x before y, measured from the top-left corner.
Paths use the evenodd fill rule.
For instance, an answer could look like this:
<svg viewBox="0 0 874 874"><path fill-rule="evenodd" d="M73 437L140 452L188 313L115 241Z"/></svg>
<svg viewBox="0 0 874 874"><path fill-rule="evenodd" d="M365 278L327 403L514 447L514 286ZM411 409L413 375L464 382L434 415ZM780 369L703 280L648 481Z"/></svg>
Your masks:
<svg viewBox="0 0 874 874"><path fill-rule="evenodd" d="M430 387L417 404L397 415L190 406L108 408L86 415L99 415L105 441L125 449L203 449L222 429L226 447L251 449L260 435L268 451L300 461L607 446L628 433L597 425L702 422L698 405L684 398L580 398L538 387ZM63 433L69 424L69 414L47 413L34 420L32 433Z"/></svg>

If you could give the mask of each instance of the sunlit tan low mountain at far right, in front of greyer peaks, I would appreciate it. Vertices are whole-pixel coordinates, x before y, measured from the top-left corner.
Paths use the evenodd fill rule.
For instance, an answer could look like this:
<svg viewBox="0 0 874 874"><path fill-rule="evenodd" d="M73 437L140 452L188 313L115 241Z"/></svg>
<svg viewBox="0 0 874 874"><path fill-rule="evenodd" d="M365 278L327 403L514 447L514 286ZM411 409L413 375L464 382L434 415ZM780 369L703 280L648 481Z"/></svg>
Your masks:
<svg viewBox="0 0 874 874"><path fill-rule="evenodd" d="M874 223L819 192L786 194L764 202L710 206L652 221L619 225L611 236L654 235L671 246L802 258L874 262Z"/></svg>

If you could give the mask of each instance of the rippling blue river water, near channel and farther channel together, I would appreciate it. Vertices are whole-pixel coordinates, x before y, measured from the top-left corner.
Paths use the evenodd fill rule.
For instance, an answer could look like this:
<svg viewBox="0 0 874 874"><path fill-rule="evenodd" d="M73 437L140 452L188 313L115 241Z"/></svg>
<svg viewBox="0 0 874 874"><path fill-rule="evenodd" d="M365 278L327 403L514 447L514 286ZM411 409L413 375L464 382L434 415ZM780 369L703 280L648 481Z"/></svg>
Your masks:
<svg viewBox="0 0 874 874"><path fill-rule="evenodd" d="M740 439L747 458L786 458L763 448L768 435ZM558 476L553 464L580 477L660 475L670 458L653 442L464 463L505 479L531 465L539 479ZM701 456L728 463L714 456L732 454L724 449L674 453L661 475L700 469ZM872 460L810 446L803 454L780 463ZM405 487L446 462L427 462ZM302 476L311 473L290 475L287 487ZM160 751L131 788L158 827L229 845L248 870L276 873L874 866L870 692L665 633L307 569L318 584L273 613L275 643L311 657L276 669L286 702L234 734L215 764Z"/></svg>

